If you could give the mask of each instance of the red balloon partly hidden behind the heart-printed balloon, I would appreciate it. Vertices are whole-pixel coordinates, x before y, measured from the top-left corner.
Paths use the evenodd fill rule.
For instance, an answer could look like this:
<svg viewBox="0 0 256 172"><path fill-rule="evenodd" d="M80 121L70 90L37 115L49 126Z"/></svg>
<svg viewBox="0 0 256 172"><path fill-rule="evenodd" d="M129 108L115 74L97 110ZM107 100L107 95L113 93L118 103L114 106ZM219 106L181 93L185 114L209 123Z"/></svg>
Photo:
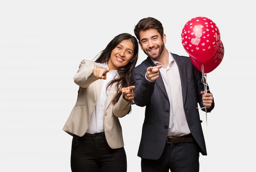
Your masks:
<svg viewBox="0 0 256 172"><path fill-rule="evenodd" d="M224 57L224 46L222 44L222 41L220 41L220 45L217 49L217 51L213 54L213 56L204 63L196 61L193 57L189 56L191 62L193 65L200 71L202 72L202 64L203 64L203 70L204 73L209 73L213 71L222 61Z"/></svg>

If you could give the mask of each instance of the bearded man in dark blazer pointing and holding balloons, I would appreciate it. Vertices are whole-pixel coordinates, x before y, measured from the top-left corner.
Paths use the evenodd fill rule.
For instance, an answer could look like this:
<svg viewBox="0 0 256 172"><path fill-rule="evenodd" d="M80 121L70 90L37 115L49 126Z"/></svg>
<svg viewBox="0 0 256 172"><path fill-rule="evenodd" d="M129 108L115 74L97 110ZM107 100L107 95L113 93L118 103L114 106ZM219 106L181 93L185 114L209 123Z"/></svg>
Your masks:
<svg viewBox="0 0 256 172"><path fill-rule="evenodd" d="M158 20L147 17L134 29L147 59L135 67L135 104L146 106L138 156L142 172L198 172L199 153L207 155L198 104L214 107L202 73L189 57L169 52ZM203 108L205 107L205 108Z"/></svg>

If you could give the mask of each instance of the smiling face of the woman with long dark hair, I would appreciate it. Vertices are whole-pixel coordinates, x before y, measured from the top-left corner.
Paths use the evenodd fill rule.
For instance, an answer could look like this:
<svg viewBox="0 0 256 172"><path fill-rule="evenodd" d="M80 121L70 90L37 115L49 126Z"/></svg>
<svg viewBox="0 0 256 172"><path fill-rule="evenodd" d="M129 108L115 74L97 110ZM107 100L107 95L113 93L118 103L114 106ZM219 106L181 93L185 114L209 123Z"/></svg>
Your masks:
<svg viewBox="0 0 256 172"><path fill-rule="evenodd" d="M124 67L133 60L134 49L133 43L129 39L124 39L111 52L108 60L108 69L117 70Z"/></svg>

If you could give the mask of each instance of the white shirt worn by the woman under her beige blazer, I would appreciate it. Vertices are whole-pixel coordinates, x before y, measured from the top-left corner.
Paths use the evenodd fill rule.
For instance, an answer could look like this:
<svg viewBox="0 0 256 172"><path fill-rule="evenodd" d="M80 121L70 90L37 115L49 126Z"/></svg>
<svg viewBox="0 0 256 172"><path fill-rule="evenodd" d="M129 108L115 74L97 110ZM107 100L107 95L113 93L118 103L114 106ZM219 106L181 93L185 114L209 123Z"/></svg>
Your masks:
<svg viewBox="0 0 256 172"><path fill-rule="evenodd" d="M101 63L101 65L99 66L105 67L108 69L107 63ZM111 85L107 89L106 87L108 83L112 81L117 74L118 74L117 70L110 70L107 73L107 78L102 80L101 93L99 96L99 100L97 101L97 104L94 110L92 111L89 127L86 133L94 134L94 133L104 132L104 111L105 111L106 101L108 98L108 92L110 90Z"/></svg>

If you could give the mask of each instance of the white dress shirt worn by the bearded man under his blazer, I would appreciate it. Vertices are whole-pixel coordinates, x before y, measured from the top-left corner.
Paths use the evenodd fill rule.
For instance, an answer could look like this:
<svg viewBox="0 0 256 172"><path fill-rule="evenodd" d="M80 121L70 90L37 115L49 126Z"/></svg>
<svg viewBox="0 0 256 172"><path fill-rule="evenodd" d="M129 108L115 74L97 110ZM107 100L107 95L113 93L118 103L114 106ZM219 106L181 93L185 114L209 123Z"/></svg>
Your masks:
<svg viewBox="0 0 256 172"><path fill-rule="evenodd" d="M168 136L179 137L187 135L190 132L186 115L183 107L182 87L180 80L180 72L177 63L169 53L169 65L165 68L158 61L152 60L155 65L162 65L159 69L164 81L164 86L170 102L170 122Z"/></svg>

